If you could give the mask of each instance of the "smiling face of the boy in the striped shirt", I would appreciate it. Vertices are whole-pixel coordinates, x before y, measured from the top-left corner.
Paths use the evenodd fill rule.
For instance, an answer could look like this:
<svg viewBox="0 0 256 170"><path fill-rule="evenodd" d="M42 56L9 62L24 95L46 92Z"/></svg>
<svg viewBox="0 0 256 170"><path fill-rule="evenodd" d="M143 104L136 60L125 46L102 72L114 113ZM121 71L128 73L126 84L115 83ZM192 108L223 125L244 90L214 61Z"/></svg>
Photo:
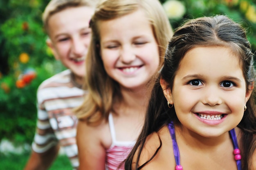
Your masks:
<svg viewBox="0 0 256 170"><path fill-rule="evenodd" d="M48 20L47 45L56 60L61 60L81 83L85 76L85 56L91 39L89 21L94 13L92 7L70 7L55 13Z"/></svg>

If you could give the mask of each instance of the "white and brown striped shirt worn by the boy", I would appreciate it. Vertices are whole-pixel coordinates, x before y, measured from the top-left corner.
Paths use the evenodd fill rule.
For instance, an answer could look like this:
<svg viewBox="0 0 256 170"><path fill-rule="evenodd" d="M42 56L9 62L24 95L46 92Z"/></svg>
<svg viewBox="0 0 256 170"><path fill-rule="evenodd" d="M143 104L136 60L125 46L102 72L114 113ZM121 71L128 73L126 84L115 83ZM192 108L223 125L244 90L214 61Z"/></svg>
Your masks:
<svg viewBox="0 0 256 170"><path fill-rule="evenodd" d="M72 83L70 70L48 78L38 87L38 119L32 143L35 152L46 152L59 143L73 168L78 169L77 119L72 109L82 104L84 94Z"/></svg>

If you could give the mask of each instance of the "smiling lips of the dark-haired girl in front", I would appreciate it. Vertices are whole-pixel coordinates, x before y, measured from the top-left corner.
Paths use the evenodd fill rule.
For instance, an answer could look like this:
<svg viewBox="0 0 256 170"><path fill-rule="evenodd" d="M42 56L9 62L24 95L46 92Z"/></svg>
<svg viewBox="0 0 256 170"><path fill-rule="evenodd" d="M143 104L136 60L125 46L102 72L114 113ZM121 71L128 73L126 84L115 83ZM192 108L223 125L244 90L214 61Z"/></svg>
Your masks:
<svg viewBox="0 0 256 170"><path fill-rule="evenodd" d="M208 120L208 119L202 119L198 116L198 114L207 114L210 116L216 116L221 114L223 117L220 120ZM215 111L204 111L204 112L197 112L194 113L195 117L202 123L205 123L207 125L218 125L220 123L222 123L223 121L225 121L227 114L222 113L222 112L215 112Z"/></svg>

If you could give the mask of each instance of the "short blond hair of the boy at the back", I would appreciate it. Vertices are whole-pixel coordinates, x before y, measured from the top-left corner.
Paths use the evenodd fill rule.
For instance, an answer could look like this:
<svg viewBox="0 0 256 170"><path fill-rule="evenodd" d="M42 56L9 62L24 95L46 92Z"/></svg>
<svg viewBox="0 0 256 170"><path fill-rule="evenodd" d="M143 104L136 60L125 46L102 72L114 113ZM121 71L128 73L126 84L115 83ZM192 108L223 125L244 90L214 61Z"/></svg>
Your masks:
<svg viewBox="0 0 256 170"><path fill-rule="evenodd" d="M61 12L70 7L95 7L97 0L51 0L45 7L42 20L46 33L49 35L49 18L55 13Z"/></svg>

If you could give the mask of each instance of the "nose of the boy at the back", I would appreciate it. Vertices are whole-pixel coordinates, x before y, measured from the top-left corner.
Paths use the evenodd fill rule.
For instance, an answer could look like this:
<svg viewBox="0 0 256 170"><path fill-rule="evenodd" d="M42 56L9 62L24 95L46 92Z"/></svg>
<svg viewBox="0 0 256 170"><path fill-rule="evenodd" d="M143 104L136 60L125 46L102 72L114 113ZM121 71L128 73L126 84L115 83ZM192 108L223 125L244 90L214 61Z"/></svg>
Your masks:
<svg viewBox="0 0 256 170"><path fill-rule="evenodd" d="M87 45L84 40L81 38L73 38L71 45L71 54L72 56L81 57L86 54Z"/></svg>

